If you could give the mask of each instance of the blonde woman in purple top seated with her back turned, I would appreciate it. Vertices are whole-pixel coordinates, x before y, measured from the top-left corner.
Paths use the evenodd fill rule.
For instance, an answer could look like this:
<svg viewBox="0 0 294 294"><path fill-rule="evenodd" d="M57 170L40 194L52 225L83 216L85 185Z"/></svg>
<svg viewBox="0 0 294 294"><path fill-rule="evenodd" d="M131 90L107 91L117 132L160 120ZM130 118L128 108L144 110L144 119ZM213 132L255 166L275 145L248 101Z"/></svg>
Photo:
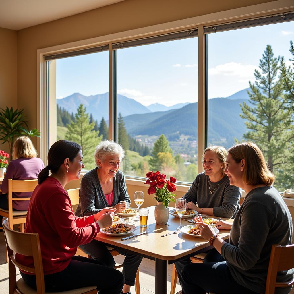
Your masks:
<svg viewBox="0 0 294 294"><path fill-rule="evenodd" d="M30 138L18 137L13 144L12 157L6 169L6 175L0 186L4 193L0 195L0 208L8 210L8 179L13 180L34 180L38 178L40 171L44 168L42 159L37 157L37 151ZM13 192L12 197L31 197L32 192ZM29 201L13 201L14 210L27 210Z"/></svg>

